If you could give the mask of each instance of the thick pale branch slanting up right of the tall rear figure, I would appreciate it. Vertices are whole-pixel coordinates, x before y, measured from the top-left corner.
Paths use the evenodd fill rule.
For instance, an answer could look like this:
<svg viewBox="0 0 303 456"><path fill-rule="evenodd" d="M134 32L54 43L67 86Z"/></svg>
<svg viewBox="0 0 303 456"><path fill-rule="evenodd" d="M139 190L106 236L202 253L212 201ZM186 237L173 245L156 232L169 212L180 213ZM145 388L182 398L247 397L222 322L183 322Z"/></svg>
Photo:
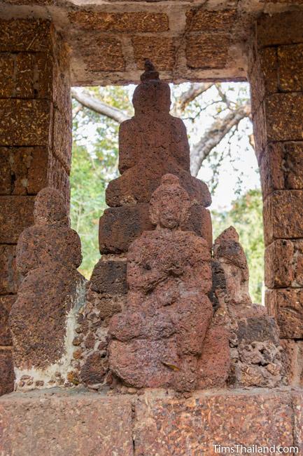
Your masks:
<svg viewBox="0 0 303 456"><path fill-rule="evenodd" d="M202 166L202 162L209 156L211 150L223 140L232 127L237 126L244 117L248 117L250 114L251 105L247 101L244 105L228 112L223 119L217 119L213 122L199 142L191 149L190 171L192 175L197 176Z"/></svg>

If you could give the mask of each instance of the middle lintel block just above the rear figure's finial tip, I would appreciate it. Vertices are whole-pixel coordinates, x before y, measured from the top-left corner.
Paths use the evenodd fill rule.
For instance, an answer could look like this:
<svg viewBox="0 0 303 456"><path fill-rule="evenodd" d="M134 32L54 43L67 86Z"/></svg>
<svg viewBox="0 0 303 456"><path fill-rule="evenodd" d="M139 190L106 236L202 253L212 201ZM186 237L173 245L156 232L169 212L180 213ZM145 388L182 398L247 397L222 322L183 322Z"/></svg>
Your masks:
<svg viewBox="0 0 303 456"><path fill-rule="evenodd" d="M143 69L144 61L149 58L157 69L173 69L175 63L174 40L168 36L133 36L134 60L139 69Z"/></svg>

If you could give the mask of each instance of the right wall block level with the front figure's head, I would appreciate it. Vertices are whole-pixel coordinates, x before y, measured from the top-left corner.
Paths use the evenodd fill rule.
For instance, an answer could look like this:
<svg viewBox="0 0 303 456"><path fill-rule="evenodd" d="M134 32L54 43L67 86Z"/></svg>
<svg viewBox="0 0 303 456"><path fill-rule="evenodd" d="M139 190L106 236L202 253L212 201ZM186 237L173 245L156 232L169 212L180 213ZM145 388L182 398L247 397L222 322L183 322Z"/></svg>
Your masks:
<svg viewBox="0 0 303 456"><path fill-rule="evenodd" d="M263 206L265 244L274 239L303 237L301 210L303 190L276 190L267 196Z"/></svg>

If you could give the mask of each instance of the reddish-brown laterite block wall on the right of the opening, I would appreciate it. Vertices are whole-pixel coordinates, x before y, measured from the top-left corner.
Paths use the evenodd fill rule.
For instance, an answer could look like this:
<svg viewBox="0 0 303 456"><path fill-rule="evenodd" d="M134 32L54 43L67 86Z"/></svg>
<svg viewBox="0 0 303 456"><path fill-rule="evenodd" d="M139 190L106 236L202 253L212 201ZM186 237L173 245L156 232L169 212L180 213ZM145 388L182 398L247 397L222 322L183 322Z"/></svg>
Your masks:
<svg viewBox="0 0 303 456"><path fill-rule="evenodd" d="M300 12L262 16L249 71L264 199L266 302L297 366L296 383L302 382L303 338L302 21Z"/></svg>

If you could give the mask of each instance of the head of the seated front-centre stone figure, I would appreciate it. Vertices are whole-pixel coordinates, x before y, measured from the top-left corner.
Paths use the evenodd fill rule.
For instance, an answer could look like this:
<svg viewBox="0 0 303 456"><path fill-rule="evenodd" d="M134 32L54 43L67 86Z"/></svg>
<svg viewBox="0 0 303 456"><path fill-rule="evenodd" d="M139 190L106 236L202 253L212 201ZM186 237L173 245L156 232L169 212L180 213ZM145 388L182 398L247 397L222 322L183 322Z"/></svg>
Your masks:
<svg viewBox="0 0 303 456"><path fill-rule="evenodd" d="M187 220L190 210L188 192L178 177L166 174L150 199L150 220L162 228L176 229Z"/></svg>

